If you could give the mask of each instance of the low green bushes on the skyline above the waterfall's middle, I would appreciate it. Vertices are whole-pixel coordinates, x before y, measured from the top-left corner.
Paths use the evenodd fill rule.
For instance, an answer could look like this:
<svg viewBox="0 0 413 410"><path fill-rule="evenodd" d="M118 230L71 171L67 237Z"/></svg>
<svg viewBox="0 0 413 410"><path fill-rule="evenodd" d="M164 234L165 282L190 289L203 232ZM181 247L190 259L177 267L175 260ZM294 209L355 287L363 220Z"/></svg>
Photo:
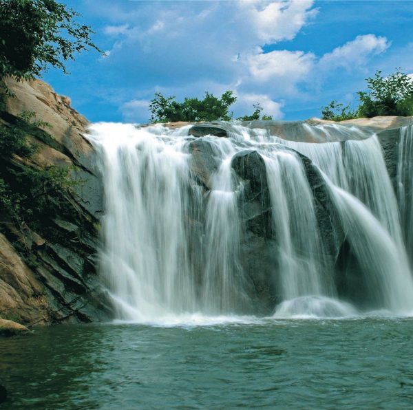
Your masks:
<svg viewBox="0 0 413 410"><path fill-rule="evenodd" d="M175 96L165 97L156 93L149 104L151 122L175 121L231 121L233 114L229 114L229 107L237 100L233 91L225 91L221 98L206 92L203 100L198 98L185 98L183 102L175 100ZM262 112L260 104L254 105L255 111L251 116L238 118L241 121L259 120ZM263 120L271 120L271 116L263 116Z"/></svg>

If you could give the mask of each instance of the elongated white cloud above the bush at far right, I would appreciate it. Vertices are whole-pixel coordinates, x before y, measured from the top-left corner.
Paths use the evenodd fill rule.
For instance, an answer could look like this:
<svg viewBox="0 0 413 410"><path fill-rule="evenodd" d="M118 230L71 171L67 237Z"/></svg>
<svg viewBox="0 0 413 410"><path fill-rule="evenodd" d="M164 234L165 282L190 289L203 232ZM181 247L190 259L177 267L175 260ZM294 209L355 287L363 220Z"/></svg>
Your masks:
<svg viewBox="0 0 413 410"><path fill-rule="evenodd" d="M368 62L371 56L381 54L390 47L388 39L374 34L357 36L341 47L336 47L332 52L324 54L319 61L322 69L334 69L343 67L345 69L361 68Z"/></svg>

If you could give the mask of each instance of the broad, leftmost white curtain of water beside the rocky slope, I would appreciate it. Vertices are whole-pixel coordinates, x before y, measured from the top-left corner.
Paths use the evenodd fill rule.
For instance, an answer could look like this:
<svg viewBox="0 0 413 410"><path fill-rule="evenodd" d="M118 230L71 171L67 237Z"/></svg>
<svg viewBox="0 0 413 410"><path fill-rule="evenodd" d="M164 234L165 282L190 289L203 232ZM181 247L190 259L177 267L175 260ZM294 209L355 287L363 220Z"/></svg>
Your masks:
<svg viewBox="0 0 413 410"><path fill-rule="evenodd" d="M150 319L191 310L184 208L188 157L181 138L153 129L96 124L105 182L105 252L101 270L123 319Z"/></svg>

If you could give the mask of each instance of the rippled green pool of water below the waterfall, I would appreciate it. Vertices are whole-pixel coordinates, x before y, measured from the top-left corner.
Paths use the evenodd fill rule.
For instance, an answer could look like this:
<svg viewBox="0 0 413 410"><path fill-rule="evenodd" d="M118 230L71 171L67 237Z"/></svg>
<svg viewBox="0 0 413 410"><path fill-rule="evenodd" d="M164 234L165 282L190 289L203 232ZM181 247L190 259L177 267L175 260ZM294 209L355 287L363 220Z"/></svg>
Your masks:
<svg viewBox="0 0 413 410"><path fill-rule="evenodd" d="M0 408L412 408L412 319L249 322L0 339Z"/></svg>

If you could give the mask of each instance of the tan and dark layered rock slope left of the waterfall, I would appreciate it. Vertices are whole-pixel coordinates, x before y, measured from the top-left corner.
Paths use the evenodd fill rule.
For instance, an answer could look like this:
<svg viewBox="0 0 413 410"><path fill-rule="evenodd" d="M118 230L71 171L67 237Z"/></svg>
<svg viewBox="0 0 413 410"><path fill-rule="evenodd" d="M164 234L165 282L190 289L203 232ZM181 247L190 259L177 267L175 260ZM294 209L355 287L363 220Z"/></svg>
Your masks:
<svg viewBox="0 0 413 410"><path fill-rule="evenodd" d="M88 122L41 80L8 79L7 85L14 98L1 112L3 125L29 115L41 120L44 132L29 136L39 147L32 158L2 159L2 175L12 180L56 166L70 169L74 184L72 192L47 195L47 209L36 210L27 223L0 215L0 316L26 325L107 318L110 308L95 268L103 187L94 150L83 137Z"/></svg>

